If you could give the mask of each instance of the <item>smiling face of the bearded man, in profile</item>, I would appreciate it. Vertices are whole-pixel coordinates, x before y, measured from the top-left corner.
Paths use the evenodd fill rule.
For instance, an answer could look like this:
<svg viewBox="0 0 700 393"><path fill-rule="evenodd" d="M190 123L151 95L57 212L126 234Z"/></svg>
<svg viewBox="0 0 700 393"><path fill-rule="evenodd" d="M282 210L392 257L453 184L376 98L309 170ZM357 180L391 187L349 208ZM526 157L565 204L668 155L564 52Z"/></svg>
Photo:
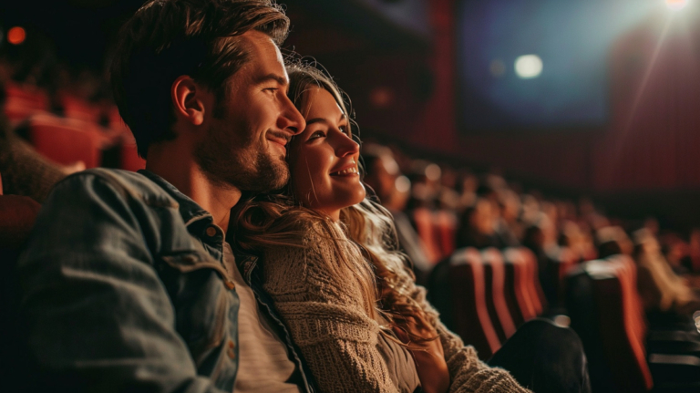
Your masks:
<svg viewBox="0 0 700 393"><path fill-rule="evenodd" d="M304 129L304 118L287 98L289 81L273 40L257 31L241 38L250 61L227 81L228 97L210 110L194 156L211 181L241 191L275 190L289 180L286 144Z"/></svg>

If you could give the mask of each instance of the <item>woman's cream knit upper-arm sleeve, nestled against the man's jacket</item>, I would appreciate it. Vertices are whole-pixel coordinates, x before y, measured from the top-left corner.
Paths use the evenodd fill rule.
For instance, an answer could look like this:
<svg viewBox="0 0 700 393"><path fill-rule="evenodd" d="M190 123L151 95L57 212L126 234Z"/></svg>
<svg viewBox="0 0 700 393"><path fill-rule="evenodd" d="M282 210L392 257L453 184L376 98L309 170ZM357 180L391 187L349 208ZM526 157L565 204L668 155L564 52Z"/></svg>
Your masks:
<svg viewBox="0 0 700 393"><path fill-rule="evenodd" d="M397 392L377 349L378 324L362 306L349 274L329 273L338 264L331 244L313 234L304 248L274 247L264 253L263 289L272 296L323 392Z"/></svg>

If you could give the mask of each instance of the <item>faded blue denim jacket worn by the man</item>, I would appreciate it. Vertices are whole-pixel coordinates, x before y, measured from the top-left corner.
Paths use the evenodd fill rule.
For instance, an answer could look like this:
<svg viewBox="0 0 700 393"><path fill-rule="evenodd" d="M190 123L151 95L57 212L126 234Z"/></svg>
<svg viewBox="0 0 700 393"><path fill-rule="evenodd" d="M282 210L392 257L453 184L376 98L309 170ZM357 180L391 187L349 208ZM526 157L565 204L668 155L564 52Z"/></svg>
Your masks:
<svg viewBox="0 0 700 393"><path fill-rule="evenodd" d="M239 298L223 242L209 212L149 171L58 183L17 265L37 376L73 391L232 392Z"/></svg>

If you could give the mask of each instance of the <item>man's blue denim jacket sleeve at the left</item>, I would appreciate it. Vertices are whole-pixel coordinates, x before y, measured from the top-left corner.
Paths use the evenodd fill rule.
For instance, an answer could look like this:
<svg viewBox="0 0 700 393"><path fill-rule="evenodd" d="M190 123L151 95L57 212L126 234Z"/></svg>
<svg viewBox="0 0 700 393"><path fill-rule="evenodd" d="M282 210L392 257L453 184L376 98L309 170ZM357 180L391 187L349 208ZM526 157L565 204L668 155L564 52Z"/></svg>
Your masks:
<svg viewBox="0 0 700 393"><path fill-rule="evenodd" d="M219 392L197 376L127 192L57 185L18 261L29 356L51 390Z"/></svg>

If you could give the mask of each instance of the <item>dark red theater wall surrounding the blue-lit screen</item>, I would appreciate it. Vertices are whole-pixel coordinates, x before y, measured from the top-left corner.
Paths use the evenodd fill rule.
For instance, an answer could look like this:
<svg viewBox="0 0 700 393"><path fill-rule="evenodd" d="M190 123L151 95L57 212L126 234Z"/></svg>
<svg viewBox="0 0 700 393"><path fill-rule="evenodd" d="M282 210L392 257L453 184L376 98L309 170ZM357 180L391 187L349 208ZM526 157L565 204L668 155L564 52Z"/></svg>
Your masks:
<svg viewBox="0 0 700 393"><path fill-rule="evenodd" d="M697 18L695 23L671 21L660 45L665 17L644 21L613 45L608 129L463 136L454 105L453 3L430 2L435 45L429 67L435 88L417 113L411 144L544 183L602 194L700 190Z"/></svg>

